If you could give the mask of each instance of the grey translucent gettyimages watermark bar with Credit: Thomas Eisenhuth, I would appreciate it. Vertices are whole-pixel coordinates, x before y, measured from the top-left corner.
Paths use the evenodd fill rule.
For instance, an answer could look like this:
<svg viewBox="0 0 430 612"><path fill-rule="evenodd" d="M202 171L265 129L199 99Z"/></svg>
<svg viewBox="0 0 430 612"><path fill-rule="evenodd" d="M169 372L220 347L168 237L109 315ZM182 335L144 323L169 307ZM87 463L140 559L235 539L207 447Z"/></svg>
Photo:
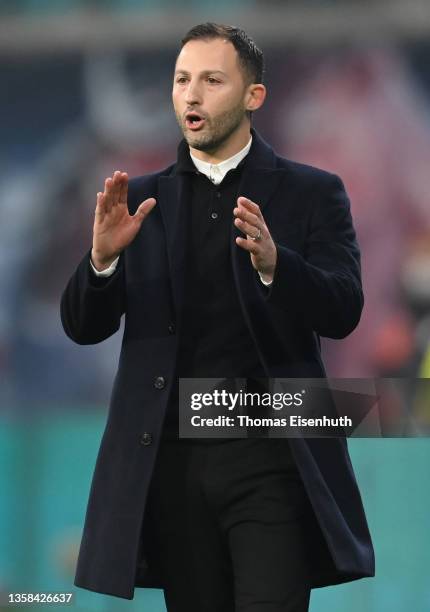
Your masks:
<svg viewBox="0 0 430 612"><path fill-rule="evenodd" d="M427 436L429 393L428 379L182 378L179 436Z"/></svg>

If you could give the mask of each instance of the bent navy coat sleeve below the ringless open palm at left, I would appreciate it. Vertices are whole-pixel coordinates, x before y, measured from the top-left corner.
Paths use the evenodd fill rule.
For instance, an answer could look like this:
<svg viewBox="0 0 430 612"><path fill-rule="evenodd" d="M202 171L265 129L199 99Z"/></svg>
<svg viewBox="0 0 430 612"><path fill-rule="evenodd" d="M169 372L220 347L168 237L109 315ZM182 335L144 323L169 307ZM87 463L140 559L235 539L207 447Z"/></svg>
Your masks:
<svg viewBox="0 0 430 612"><path fill-rule="evenodd" d="M66 334L78 344L96 344L114 334L125 311L124 261L108 278L91 270L87 252L61 296L61 322Z"/></svg>

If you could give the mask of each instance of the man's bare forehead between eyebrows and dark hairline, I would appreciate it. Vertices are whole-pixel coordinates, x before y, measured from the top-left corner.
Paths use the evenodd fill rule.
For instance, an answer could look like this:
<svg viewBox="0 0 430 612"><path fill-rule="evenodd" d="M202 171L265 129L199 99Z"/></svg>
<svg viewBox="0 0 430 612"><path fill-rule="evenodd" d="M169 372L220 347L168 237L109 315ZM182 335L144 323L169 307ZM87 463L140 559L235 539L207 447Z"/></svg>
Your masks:
<svg viewBox="0 0 430 612"><path fill-rule="evenodd" d="M237 51L224 38L190 40L182 47L176 59L175 70L234 72L239 70Z"/></svg>

